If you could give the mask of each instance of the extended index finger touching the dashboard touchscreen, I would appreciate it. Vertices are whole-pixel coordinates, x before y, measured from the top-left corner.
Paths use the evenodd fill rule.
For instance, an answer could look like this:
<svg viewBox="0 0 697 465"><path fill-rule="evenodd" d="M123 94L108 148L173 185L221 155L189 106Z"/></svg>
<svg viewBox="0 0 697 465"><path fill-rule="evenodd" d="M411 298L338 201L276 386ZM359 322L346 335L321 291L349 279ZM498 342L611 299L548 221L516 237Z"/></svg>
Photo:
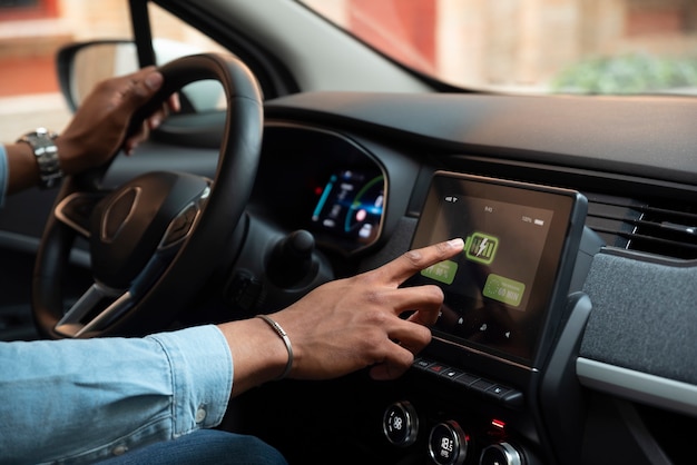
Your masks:
<svg viewBox="0 0 697 465"><path fill-rule="evenodd" d="M401 285L412 275L424 268L446 260L464 248L461 238L438 243L420 249L409 250L382 267L387 279Z"/></svg>

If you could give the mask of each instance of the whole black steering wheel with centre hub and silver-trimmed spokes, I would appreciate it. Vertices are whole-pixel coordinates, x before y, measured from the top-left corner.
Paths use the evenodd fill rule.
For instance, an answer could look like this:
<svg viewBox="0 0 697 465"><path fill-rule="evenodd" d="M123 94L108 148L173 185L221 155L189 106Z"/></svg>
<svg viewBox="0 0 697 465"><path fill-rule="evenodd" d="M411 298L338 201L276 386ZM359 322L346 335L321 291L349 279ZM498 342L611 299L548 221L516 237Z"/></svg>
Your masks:
<svg viewBox="0 0 697 465"><path fill-rule="evenodd" d="M262 95L233 57L196 55L160 68L163 88L134 121L184 86L215 79L227 100L213 180L155 171L116 190L99 188L101 169L67 177L48 218L32 278L37 329L48 338L144 335L175 320L229 247L258 166ZM96 180L97 179L97 180ZM89 241L92 286L63 308L62 277L76 237Z"/></svg>

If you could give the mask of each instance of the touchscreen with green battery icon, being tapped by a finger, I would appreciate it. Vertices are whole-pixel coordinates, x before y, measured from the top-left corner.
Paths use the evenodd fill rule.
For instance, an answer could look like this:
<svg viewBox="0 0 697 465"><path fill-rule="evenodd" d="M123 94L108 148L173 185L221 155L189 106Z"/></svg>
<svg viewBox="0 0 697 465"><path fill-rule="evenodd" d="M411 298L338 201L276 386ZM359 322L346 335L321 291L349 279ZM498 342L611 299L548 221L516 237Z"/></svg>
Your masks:
<svg viewBox="0 0 697 465"><path fill-rule="evenodd" d="M529 365L579 201L569 190L436 174L412 248L453 237L465 247L409 281L444 291L434 335Z"/></svg>

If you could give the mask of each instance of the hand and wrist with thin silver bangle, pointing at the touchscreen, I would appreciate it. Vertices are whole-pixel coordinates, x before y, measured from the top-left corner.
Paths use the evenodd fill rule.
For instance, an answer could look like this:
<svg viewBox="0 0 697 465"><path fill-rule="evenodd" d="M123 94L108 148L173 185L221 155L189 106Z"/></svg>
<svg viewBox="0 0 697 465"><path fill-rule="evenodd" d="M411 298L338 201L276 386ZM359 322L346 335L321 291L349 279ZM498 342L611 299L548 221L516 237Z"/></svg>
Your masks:
<svg viewBox="0 0 697 465"><path fill-rule="evenodd" d="M402 375L431 342L442 290L399 286L410 276L462 251L462 239L410 250L352 278L320 286L269 315L291 339L292 378L327 379L371 367L375 379ZM402 318L405 313L409 318ZM288 359L282 339L259 318L220 325L233 353L234 395L278 376Z"/></svg>

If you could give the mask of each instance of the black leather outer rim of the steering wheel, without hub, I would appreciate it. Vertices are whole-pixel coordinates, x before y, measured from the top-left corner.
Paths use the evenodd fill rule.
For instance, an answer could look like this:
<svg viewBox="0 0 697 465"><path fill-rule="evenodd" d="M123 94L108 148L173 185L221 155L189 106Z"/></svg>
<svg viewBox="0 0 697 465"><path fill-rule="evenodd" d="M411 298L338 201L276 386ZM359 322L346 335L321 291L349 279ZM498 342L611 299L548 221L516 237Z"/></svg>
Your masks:
<svg viewBox="0 0 697 465"><path fill-rule="evenodd" d="M159 71L165 78L163 88L134 116L134 121L143 121L168 96L188 83L214 79L223 86L226 125L213 186L193 231L165 273L116 321L97 334L80 337L144 335L164 329L206 283L207 264L214 263L219 251L229 246L254 186L262 145L263 99L249 69L234 57L204 53L174 60ZM66 178L56 206L69 195L85 190L90 176L94 172ZM31 301L39 334L63 338L56 325L63 315L61 281L76 231L61 222L55 211L47 220L39 246Z"/></svg>

